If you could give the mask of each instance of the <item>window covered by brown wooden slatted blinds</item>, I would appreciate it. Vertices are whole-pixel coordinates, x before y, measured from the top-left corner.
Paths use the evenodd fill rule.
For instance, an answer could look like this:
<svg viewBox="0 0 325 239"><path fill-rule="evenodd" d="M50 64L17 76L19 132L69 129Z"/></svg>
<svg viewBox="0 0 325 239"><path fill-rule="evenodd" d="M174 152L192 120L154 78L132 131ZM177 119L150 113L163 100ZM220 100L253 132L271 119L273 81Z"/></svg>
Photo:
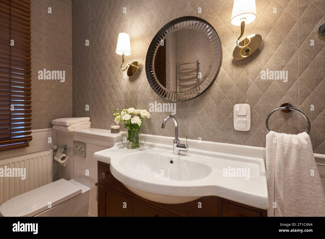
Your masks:
<svg viewBox="0 0 325 239"><path fill-rule="evenodd" d="M32 140L31 1L0 0L0 151Z"/></svg>

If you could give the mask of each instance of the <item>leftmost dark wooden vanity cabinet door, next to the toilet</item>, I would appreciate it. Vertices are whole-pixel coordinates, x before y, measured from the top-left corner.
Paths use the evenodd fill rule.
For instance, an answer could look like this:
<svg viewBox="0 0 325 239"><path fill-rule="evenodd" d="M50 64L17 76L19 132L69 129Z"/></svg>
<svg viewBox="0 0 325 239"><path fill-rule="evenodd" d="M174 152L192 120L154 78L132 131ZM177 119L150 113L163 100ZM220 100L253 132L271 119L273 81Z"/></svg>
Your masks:
<svg viewBox="0 0 325 239"><path fill-rule="evenodd" d="M99 183L100 217L132 217L133 197Z"/></svg>

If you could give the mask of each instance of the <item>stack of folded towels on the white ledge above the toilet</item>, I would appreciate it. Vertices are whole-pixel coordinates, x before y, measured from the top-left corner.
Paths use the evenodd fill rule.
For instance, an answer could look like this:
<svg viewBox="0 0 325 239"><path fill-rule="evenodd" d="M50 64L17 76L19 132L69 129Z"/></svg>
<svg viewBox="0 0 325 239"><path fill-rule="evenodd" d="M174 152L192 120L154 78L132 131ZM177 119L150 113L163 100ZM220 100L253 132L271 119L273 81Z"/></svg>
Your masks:
<svg viewBox="0 0 325 239"><path fill-rule="evenodd" d="M60 118L53 119L53 129L62 130L62 131L75 131L75 130L83 130L89 129L91 126L91 122L89 121L89 117L81 117L81 118Z"/></svg>

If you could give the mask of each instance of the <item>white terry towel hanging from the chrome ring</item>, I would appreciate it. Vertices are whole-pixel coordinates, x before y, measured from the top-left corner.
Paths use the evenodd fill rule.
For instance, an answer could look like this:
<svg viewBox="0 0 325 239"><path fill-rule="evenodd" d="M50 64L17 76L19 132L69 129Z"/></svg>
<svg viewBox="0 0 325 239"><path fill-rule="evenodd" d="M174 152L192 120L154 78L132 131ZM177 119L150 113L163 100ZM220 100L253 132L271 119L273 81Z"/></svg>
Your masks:
<svg viewBox="0 0 325 239"><path fill-rule="evenodd" d="M266 177L268 217L325 216L324 190L306 132L266 135Z"/></svg>

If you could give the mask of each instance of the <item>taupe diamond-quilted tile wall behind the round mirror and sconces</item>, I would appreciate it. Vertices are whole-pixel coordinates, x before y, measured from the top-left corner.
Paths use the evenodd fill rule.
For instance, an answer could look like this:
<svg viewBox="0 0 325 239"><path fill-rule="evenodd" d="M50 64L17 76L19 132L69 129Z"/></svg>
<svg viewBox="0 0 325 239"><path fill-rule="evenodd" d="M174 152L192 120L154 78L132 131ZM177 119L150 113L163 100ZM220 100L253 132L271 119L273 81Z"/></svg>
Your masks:
<svg viewBox="0 0 325 239"><path fill-rule="evenodd" d="M176 103L180 137L240 145L265 146L265 118L281 103L290 102L311 121L315 153L325 153L325 37L318 26L325 23L325 0L256 0L257 19L245 35L259 33L263 43L253 56L232 57L240 28L230 24L233 0L72 0L73 116L90 116L92 126L109 129L113 109L135 104L149 108L154 101L169 103L153 92L145 74L145 57L155 33L169 21L197 16L210 22L223 47L219 75L210 89L196 99ZM127 13L123 13L126 7ZM201 7L202 13L198 13ZM276 9L276 13L274 13ZM131 38L131 56L141 69L123 79L122 57L115 53L118 34ZM85 46L85 40L90 41ZM310 41L314 45L310 45ZM288 82L261 80L262 70L288 70ZM248 132L233 128L233 106L248 103L252 124ZM90 106L85 111L85 105ZM311 111L311 105L314 110ZM173 123L161 123L168 113L152 113L142 132L174 135ZM305 130L298 113L279 112L269 121L278 132Z"/></svg>

